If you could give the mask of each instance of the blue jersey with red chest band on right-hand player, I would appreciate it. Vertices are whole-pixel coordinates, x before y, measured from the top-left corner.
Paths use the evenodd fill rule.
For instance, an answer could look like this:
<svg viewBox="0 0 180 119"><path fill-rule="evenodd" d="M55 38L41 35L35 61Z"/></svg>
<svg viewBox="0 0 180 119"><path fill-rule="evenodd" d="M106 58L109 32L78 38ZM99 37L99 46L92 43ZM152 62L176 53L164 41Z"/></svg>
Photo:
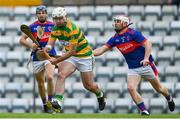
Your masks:
<svg viewBox="0 0 180 119"><path fill-rule="evenodd" d="M115 34L111 37L106 46L109 48L117 47L125 57L125 60L130 69L141 67L140 62L144 59L145 47L144 42L147 39L136 30L128 28L123 34ZM153 57L150 55L149 61L153 62Z"/></svg>

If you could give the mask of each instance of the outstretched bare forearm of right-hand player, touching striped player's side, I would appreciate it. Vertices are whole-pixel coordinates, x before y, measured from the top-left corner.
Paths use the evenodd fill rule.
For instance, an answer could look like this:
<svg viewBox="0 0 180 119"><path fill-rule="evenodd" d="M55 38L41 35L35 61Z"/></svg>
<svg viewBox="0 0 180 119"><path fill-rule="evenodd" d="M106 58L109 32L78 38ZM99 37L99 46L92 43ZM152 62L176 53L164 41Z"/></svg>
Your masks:
<svg viewBox="0 0 180 119"><path fill-rule="evenodd" d="M99 56L105 53L106 51L110 50L110 48L107 45L103 45L100 48L97 48L93 51L94 56Z"/></svg>

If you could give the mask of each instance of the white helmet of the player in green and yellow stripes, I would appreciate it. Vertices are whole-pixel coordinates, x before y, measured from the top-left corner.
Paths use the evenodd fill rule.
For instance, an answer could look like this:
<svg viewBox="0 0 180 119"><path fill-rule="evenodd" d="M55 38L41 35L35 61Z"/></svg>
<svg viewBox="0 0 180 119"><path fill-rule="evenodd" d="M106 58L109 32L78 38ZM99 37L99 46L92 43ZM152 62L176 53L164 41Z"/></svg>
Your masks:
<svg viewBox="0 0 180 119"><path fill-rule="evenodd" d="M64 17L66 16L66 10L63 7L57 7L52 11L52 17Z"/></svg>

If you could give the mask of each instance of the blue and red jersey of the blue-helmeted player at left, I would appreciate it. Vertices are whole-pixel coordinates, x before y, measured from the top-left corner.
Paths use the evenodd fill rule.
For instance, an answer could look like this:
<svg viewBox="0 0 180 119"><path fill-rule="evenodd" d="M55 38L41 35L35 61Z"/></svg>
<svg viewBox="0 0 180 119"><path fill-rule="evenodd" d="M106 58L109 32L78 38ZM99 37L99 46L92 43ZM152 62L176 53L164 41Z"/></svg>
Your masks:
<svg viewBox="0 0 180 119"><path fill-rule="evenodd" d="M43 29L44 29L44 33L39 41L39 44L41 47L45 47L48 40L49 40L49 37L50 37L50 34L51 34L51 30L52 28L54 27L54 24L50 21L46 21L45 23L41 23L39 21L35 21L34 23L32 23L29 28L34 36L34 38L36 39L37 38L37 28L38 26L41 26ZM36 56L36 51L34 51L33 53L33 61L39 61L37 56ZM54 47L51 49L51 51L49 52L49 55L50 56L55 56L56 55L56 51L54 49Z"/></svg>

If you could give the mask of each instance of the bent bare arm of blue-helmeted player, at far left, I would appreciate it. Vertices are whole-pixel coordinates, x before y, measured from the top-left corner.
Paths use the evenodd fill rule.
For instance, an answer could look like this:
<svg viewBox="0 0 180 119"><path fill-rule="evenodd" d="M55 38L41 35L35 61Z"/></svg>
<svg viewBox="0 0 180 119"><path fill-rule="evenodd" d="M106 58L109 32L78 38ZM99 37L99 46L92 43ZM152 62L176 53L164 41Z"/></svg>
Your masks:
<svg viewBox="0 0 180 119"><path fill-rule="evenodd" d="M22 34L22 36L20 37L19 43L27 48L31 48L33 50L35 50L37 48L37 45L34 43L30 43L27 40L28 36L26 34Z"/></svg>

